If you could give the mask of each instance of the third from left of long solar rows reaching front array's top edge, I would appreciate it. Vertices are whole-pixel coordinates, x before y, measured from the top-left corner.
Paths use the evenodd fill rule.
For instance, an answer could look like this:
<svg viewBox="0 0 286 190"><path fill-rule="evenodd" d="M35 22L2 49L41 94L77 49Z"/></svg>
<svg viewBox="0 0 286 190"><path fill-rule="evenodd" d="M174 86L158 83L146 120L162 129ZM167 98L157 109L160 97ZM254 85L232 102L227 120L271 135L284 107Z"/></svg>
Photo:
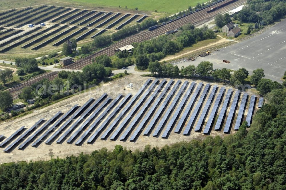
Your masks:
<svg viewBox="0 0 286 190"><path fill-rule="evenodd" d="M128 133L130 132L130 130L132 129L132 127L135 125L135 123L138 121L138 119L141 117L141 115L143 114L143 112L146 110L146 108L149 106L149 104L151 103L151 101L154 99L154 97L156 96L157 92L161 89L162 85L165 83L165 79L163 79L160 84L157 86L157 88L155 89L155 91L153 91L152 95L150 96L150 98L147 100L147 102L142 106L142 108L140 109L140 111L138 113L136 113L136 117L131 121L130 125L127 127L127 129L124 131L123 135L121 135L120 140L124 140L126 138L126 136L128 135Z"/></svg>

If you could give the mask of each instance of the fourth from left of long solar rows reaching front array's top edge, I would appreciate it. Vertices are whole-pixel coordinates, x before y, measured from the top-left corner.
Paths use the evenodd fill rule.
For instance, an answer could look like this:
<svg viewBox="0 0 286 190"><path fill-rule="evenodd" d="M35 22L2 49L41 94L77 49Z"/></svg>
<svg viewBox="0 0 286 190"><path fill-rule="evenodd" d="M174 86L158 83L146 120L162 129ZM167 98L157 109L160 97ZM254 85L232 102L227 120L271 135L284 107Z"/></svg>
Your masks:
<svg viewBox="0 0 286 190"><path fill-rule="evenodd" d="M164 90L162 91L162 93L159 95L159 97L156 99L155 103L152 104L152 107L149 109L148 113L145 115L145 117L143 118L143 120L139 123L139 126L136 128L136 130L134 131L134 133L132 134L132 136L130 137L130 141L134 141L135 137L138 135L139 131L142 129L143 125L145 124L145 122L147 121L147 119L150 118L150 115L152 114L152 112L154 111L154 109L157 107L158 103L161 101L162 97L166 94L169 86L172 84L173 80L170 80L166 86L164 87Z"/></svg>

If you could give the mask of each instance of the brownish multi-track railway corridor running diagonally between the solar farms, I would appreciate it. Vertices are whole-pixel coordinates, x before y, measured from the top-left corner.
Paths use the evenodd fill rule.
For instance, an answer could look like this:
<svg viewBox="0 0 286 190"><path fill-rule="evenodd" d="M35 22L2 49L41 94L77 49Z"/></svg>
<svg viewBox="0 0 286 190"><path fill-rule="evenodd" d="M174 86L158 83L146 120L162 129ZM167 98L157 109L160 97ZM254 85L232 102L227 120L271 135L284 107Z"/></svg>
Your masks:
<svg viewBox="0 0 286 190"><path fill-rule="evenodd" d="M216 5L213 5L211 7L208 8L212 8L215 7L217 5L223 4L225 3L225 1L222 1ZM183 17L179 20L176 20L174 22L171 22L167 25L164 25L162 27L159 27L155 30L152 31L142 31L140 33L140 35L132 35L130 37L127 37L115 44L110 45L109 47L106 47L92 55L89 55L83 59L80 59L78 61L76 61L75 63L71 64L71 65L67 65L65 67L62 67L63 69L82 69L84 66L89 65L90 63L92 63L92 59L94 57L97 57L99 55L108 55L108 56L112 56L114 55L114 49L117 49L119 47L122 47L126 44L130 44L130 43L134 43L134 42L142 42L144 40L149 40L152 39L158 35L164 34L165 32L169 31L171 28L175 29L175 28L179 28L187 23L192 23L194 25L199 25L201 23L204 23L205 21L208 21L210 19L212 19L213 17L215 17L215 15L217 15L218 13L224 13L226 11L228 11L231 7L236 7L239 5L242 5L243 3L246 3L246 0L238 0L235 1L234 3L230 3L229 5L226 5L220 9L217 9L215 11L212 11L210 13L206 13L206 9L203 9L201 11L198 11L196 13L190 14L186 17ZM28 80L28 84L31 85L33 83L36 83L37 81L43 79L43 78L47 78L49 80L54 79L57 76L58 71L52 71L49 73L44 73L42 75L39 75L35 78L32 78L30 80ZM23 89L24 87L26 87L27 85L27 81L8 89L8 91L12 94L13 99L17 99L18 95L21 93L21 89Z"/></svg>

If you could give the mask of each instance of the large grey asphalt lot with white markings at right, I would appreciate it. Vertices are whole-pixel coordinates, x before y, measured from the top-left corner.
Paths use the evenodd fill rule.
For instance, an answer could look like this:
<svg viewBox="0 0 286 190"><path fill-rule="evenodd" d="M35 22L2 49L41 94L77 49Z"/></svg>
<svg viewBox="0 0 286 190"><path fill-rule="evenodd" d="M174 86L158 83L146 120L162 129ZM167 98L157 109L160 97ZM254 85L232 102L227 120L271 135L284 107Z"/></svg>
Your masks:
<svg viewBox="0 0 286 190"><path fill-rule="evenodd" d="M245 67L249 74L254 69L263 68L265 78L282 82L280 78L286 71L286 20L260 35L251 37L245 41L214 51L212 55L198 57L196 61L178 63L178 67L194 64L201 61L210 61L214 69L228 68L237 70ZM224 63L223 60L231 63Z"/></svg>

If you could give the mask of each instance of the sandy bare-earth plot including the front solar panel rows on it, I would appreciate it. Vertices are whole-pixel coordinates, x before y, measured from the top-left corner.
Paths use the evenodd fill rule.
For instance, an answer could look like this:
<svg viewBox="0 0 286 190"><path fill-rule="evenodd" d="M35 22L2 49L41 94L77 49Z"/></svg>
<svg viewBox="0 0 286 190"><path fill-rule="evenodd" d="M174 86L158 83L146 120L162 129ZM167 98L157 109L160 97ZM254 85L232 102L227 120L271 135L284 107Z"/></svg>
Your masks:
<svg viewBox="0 0 286 190"><path fill-rule="evenodd" d="M250 123L258 109L255 95L213 83L139 75L130 79L104 84L1 124L5 137L0 142L1 162L48 160L102 147L113 149L116 144L142 150L147 144L162 147L209 135L225 136L234 133L242 121ZM130 82L133 88L126 88ZM25 130L5 143L23 126Z"/></svg>

